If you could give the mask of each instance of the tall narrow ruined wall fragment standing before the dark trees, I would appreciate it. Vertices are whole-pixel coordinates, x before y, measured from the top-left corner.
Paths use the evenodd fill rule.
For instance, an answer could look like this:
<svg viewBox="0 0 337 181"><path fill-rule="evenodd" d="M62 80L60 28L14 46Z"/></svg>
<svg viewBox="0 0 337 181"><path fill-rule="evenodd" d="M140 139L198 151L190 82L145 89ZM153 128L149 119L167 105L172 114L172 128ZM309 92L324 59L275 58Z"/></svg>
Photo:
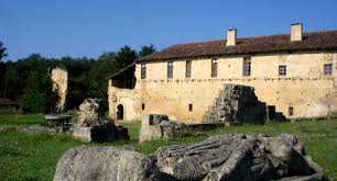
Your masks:
<svg viewBox="0 0 337 181"><path fill-rule="evenodd" d="M56 106L62 111L65 106L67 88L68 88L68 72L61 68L52 70L53 89L57 89L59 100Z"/></svg>

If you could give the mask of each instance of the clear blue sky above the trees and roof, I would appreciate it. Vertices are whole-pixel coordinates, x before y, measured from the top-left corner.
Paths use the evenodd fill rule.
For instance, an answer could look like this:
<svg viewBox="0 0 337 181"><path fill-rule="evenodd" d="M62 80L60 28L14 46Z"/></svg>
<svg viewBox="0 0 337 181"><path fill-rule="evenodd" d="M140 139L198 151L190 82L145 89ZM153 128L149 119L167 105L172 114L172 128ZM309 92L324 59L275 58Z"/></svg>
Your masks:
<svg viewBox="0 0 337 181"><path fill-rule="evenodd" d="M337 0L0 0L8 59L97 58L123 45L156 49L199 41L337 30Z"/></svg>

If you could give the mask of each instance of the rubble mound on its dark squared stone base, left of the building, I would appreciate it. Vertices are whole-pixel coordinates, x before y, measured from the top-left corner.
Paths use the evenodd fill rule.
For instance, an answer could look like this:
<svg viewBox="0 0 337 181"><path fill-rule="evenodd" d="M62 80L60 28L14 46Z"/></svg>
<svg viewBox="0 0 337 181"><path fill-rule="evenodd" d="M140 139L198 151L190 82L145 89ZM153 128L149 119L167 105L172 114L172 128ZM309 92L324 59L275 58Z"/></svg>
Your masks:
<svg viewBox="0 0 337 181"><path fill-rule="evenodd" d="M105 117L100 99L86 99L80 105L70 135L83 142L128 140L128 128Z"/></svg>

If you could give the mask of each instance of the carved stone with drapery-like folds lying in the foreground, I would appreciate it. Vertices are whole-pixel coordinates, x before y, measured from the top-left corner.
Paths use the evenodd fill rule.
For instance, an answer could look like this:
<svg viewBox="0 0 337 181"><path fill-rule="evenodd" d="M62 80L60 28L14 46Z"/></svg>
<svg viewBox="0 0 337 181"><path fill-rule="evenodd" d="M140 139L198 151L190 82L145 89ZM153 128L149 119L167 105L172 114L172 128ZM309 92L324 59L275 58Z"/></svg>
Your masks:
<svg viewBox="0 0 337 181"><path fill-rule="evenodd" d="M162 147L157 150L157 165L177 180L278 180L295 176L306 180L305 177L322 177L303 149L292 135L220 135L197 144Z"/></svg>

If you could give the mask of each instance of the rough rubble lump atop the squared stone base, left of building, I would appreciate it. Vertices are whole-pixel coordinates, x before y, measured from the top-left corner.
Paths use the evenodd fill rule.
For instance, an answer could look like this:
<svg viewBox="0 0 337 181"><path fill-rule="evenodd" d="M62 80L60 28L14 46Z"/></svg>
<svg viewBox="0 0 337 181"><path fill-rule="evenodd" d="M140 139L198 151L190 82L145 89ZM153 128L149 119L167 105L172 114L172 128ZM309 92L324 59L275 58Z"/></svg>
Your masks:
<svg viewBox="0 0 337 181"><path fill-rule="evenodd" d="M76 124L83 127L97 126L105 122L100 99L89 98L84 100L77 114Z"/></svg>

